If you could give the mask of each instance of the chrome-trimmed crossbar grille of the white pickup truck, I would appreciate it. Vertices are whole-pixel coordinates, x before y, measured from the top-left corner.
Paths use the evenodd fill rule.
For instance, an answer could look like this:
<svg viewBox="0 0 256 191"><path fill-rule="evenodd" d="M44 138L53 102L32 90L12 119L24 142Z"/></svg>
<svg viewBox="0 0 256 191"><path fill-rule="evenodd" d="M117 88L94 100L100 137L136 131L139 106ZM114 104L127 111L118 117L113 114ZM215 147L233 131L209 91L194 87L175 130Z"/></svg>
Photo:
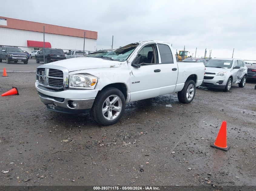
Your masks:
<svg viewBox="0 0 256 191"><path fill-rule="evenodd" d="M61 70L37 68L36 74L37 80L41 86L53 89L63 88L63 72Z"/></svg>

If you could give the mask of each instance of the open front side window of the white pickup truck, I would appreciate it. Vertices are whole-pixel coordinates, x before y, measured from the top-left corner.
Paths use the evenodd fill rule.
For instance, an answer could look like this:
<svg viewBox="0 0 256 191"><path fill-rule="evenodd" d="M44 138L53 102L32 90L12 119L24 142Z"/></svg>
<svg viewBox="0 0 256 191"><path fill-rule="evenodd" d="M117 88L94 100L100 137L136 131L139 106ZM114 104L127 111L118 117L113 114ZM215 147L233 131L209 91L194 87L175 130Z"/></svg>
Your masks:
<svg viewBox="0 0 256 191"><path fill-rule="evenodd" d="M141 63L156 64L155 47L152 44L144 46L138 53L138 56L141 56L139 60L139 64Z"/></svg>

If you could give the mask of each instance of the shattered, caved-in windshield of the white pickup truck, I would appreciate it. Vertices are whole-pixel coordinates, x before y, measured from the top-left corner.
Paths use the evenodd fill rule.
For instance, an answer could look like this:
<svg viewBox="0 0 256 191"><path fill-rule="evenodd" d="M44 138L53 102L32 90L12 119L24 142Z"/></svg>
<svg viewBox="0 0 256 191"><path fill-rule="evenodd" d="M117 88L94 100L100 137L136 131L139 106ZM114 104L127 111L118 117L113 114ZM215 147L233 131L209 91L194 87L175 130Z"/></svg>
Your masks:
<svg viewBox="0 0 256 191"><path fill-rule="evenodd" d="M113 51L88 54L87 57L103 57L103 58L108 57L113 60L118 60L122 62L122 61L125 61L131 55L131 53L134 51L134 49L137 46L138 46L138 43L132 43Z"/></svg>

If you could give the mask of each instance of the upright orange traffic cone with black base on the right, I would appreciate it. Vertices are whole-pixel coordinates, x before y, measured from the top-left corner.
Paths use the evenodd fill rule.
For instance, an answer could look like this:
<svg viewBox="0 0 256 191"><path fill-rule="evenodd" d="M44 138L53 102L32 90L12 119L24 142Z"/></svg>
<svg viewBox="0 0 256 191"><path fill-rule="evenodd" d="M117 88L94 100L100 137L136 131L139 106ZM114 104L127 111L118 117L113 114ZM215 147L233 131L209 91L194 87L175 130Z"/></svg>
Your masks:
<svg viewBox="0 0 256 191"><path fill-rule="evenodd" d="M221 149L223 151L228 151L230 145L227 144L227 122L223 121L221 124L221 129L219 130L218 136L215 142L211 142L211 147Z"/></svg>

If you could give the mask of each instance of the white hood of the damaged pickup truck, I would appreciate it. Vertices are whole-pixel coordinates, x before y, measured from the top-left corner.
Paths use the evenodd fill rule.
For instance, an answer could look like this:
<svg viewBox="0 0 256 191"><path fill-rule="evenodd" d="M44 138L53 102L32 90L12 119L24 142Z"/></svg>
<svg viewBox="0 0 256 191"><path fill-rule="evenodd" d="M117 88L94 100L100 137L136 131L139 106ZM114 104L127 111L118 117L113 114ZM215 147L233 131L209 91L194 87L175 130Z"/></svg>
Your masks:
<svg viewBox="0 0 256 191"><path fill-rule="evenodd" d="M93 57L78 57L51 62L44 65L62 66L68 69L69 72L93 68L115 68L120 67L122 62L107 60Z"/></svg>

